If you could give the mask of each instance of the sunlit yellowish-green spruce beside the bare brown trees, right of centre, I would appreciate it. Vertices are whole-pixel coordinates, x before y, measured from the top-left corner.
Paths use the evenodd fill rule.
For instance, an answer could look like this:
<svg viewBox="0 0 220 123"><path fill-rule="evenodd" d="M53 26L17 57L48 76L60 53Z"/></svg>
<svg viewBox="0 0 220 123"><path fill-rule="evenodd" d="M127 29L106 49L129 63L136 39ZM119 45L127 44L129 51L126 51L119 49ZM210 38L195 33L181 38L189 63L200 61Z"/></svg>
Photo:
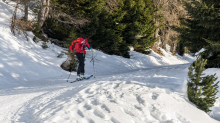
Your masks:
<svg viewBox="0 0 220 123"><path fill-rule="evenodd" d="M157 39L154 37L156 27L154 20L159 11L153 7L151 0L124 0L123 10L126 10L122 22L126 24L126 28L122 32L122 36L128 44L133 44L135 49L152 46ZM139 37L137 37L139 36Z"/></svg>

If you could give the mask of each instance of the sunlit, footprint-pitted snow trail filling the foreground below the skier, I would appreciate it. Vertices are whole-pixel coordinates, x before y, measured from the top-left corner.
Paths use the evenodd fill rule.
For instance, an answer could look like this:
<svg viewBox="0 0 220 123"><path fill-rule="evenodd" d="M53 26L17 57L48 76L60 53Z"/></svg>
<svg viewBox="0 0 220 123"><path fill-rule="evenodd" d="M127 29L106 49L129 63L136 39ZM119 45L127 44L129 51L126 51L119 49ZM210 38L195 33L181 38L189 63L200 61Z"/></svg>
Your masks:
<svg viewBox="0 0 220 123"><path fill-rule="evenodd" d="M217 123L186 99L182 81L187 66L97 76L72 84L45 79L42 87L5 90L0 111L8 112L0 112L0 122Z"/></svg>

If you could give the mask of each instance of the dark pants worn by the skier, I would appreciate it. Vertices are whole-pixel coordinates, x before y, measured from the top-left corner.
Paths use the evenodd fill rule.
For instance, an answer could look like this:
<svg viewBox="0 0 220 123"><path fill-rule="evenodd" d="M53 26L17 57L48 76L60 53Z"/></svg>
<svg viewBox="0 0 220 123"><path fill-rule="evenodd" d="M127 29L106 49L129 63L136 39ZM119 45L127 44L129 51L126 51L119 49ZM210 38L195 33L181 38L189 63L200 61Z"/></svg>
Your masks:
<svg viewBox="0 0 220 123"><path fill-rule="evenodd" d="M84 74L85 73L85 68L84 68L84 66L85 66L85 63L84 63L85 54L84 53L76 53L76 57L79 60L77 75L79 75L80 73Z"/></svg>

